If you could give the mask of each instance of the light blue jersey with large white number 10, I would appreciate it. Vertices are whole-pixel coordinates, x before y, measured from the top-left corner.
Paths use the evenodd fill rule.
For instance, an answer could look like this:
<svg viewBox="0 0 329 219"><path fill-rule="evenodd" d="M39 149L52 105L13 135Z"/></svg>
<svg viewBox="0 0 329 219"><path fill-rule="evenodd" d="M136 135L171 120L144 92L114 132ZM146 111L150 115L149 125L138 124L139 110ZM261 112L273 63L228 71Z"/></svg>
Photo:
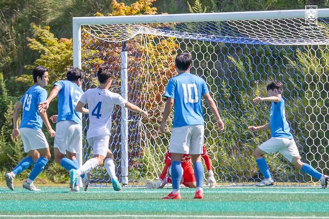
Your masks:
<svg viewBox="0 0 329 219"><path fill-rule="evenodd" d="M208 93L205 81L191 73L172 77L163 96L174 99L173 127L204 124L202 95Z"/></svg>

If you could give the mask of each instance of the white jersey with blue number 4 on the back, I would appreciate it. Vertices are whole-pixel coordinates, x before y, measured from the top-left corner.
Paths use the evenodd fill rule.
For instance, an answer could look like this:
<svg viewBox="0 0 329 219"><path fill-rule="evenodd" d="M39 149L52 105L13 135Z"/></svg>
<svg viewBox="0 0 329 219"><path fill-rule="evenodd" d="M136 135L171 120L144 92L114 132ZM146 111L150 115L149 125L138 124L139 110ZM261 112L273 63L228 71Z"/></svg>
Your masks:
<svg viewBox="0 0 329 219"><path fill-rule="evenodd" d="M87 138L109 135L114 105L118 104L124 107L127 102L120 94L98 87L87 89L87 91L82 94L80 101L88 104L89 109Z"/></svg>

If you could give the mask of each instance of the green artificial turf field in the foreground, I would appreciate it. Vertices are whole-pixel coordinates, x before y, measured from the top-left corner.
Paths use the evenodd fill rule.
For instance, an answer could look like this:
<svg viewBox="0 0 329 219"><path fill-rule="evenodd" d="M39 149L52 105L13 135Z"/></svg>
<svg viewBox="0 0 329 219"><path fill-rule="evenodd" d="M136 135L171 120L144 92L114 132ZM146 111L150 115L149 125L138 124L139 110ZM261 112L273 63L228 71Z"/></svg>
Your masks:
<svg viewBox="0 0 329 219"><path fill-rule="evenodd" d="M329 189L320 187L181 188L181 200L162 200L169 188L0 187L0 218L329 218Z"/></svg>

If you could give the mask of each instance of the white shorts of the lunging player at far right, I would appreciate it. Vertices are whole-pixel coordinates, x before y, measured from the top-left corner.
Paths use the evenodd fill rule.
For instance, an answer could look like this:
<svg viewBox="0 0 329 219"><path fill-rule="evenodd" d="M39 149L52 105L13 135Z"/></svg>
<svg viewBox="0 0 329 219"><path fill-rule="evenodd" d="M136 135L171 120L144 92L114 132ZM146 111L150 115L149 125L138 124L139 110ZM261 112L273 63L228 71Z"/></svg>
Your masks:
<svg viewBox="0 0 329 219"><path fill-rule="evenodd" d="M293 139L271 137L258 147L266 153L280 152L290 162L293 157L301 158Z"/></svg>

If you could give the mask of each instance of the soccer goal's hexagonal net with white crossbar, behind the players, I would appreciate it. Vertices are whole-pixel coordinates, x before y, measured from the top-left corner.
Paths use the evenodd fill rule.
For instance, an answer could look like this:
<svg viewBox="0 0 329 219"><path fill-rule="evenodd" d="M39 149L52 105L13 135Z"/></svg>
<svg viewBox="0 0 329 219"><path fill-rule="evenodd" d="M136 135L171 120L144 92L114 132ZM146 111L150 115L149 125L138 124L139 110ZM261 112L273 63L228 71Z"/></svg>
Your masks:
<svg viewBox="0 0 329 219"><path fill-rule="evenodd" d="M302 161L329 173L329 10L317 11L319 17L311 20L305 19L305 10L73 18L73 25L81 27L73 44L74 63L85 72L83 88L96 86L95 71L108 64L116 73L110 90L149 113L140 117L118 106L113 111L109 148L121 182L144 185L163 168L173 114L168 132L161 134L162 94L176 75L174 57L182 51L192 54L191 73L206 81L225 124L219 132L204 106L204 145L218 184L262 178L252 150L270 132L250 133L247 126L268 122L270 104L251 100L266 96L272 79L283 82L285 113ZM88 117L83 121L86 133ZM91 155L84 141L83 161ZM317 181L278 153L266 159L276 183ZM110 178L97 167L92 181Z"/></svg>

